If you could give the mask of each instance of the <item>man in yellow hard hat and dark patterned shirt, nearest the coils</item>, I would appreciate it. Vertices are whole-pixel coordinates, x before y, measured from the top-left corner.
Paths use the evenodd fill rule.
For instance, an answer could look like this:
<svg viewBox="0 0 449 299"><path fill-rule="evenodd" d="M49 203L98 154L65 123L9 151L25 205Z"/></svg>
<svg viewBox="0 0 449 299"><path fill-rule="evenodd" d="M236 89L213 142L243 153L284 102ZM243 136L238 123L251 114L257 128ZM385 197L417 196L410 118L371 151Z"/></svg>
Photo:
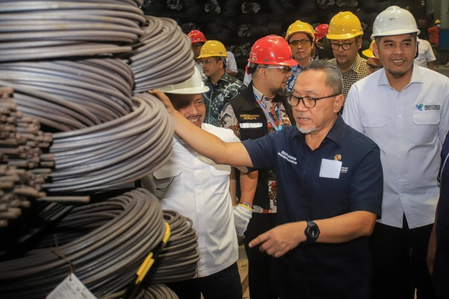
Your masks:
<svg viewBox="0 0 449 299"><path fill-rule="evenodd" d="M204 122L215 126L220 125L220 111L225 102L246 88L241 81L227 74L226 57L225 46L220 41L213 40L204 43L198 57L203 67L203 74L207 77L206 86L209 88L208 92L203 92L206 104Z"/></svg>

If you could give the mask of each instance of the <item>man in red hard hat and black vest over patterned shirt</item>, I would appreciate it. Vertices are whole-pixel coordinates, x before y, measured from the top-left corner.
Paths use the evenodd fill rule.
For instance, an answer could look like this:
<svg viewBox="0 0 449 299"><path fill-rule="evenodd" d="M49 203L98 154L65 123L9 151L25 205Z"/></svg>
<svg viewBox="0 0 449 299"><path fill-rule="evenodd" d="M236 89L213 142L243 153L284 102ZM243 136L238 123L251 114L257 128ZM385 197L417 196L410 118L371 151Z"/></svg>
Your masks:
<svg viewBox="0 0 449 299"><path fill-rule="evenodd" d="M276 35L256 41L250 51L248 88L225 104L221 126L234 130L242 140L257 139L295 123L284 95L293 60L288 43ZM240 174L240 204L234 209L238 234L245 232L251 299L276 299L270 288L272 257L248 243L276 225L276 174L274 169ZM251 218L252 217L252 218ZM249 223L249 225L248 225Z"/></svg>

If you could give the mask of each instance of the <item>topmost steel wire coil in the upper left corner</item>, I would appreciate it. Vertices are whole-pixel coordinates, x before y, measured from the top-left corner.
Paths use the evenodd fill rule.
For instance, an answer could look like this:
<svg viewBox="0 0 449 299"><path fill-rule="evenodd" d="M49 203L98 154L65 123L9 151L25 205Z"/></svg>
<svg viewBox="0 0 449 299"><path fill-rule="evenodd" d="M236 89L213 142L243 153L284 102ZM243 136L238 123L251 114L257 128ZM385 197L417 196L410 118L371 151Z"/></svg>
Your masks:
<svg viewBox="0 0 449 299"><path fill-rule="evenodd" d="M142 35L142 1L1 1L0 62L111 55Z"/></svg>

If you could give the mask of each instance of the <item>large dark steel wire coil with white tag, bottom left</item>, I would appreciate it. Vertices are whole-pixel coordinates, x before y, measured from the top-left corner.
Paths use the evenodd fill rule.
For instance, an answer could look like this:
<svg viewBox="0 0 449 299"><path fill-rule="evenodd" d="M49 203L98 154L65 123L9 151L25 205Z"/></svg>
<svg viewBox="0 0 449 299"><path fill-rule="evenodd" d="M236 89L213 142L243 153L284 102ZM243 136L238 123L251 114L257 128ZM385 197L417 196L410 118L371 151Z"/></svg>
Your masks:
<svg viewBox="0 0 449 299"><path fill-rule="evenodd" d="M58 251L35 249L0 263L1 298L44 298L67 277L70 264L95 296L121 291L166 230L159 200L142 188L76 207L60 225L67 233L93 230Z"/></svg>

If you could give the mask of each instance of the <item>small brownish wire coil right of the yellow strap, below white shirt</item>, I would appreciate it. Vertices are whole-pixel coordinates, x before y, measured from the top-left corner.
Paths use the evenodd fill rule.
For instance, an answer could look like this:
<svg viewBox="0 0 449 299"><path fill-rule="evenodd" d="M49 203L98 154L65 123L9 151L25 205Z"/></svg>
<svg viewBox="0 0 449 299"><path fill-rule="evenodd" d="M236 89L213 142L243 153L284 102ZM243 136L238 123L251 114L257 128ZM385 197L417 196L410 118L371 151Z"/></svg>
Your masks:
<svg viewBox="0 0 449 299"><path fill-rule="evenodd" d="M170 210L163 211L163 218L170 225L171 235L152 272L143 281L148 286L191 279L199 261L198 236L192 228L192 220Z"/></svg>

